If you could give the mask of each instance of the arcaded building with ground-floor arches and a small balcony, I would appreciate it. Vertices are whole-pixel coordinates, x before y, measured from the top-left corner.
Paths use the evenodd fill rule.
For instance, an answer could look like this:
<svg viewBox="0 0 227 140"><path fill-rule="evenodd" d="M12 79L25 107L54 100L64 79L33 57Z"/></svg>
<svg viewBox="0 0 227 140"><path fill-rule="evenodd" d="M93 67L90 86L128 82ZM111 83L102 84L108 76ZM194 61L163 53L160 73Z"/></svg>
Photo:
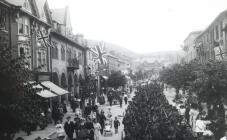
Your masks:
<svg viewBox="0 0 227 140"><path fill-rule="evenodd" d="M51 9L53 28L52 76L53 82L67 89L70 97L79 96L80 83L85 79L86 47L74 40L68 7ZM66 96L66 98L68 98Z"/></svg>

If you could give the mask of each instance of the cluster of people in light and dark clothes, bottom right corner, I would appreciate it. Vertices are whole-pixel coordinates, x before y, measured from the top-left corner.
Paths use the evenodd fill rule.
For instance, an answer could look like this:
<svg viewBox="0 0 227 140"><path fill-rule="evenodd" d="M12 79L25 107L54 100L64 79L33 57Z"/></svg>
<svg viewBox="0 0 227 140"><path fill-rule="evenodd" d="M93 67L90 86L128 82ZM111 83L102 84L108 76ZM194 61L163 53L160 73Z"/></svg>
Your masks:
<svg viewBox="0 0 227 140"><path fill-rule="evenodd" d="M201 104L187 103L185 111L186 122L191 126L193 134L197 138L220 140L225 136L224 107L212 105L204 109Z"/></svg>

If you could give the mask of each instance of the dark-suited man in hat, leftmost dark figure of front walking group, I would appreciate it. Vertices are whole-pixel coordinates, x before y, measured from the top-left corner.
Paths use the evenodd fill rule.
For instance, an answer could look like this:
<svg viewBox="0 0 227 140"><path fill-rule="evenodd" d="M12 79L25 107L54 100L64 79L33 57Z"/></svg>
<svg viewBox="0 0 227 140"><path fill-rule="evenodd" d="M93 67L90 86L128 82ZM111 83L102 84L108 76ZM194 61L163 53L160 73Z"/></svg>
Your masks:
<svg viewBox="0 0 227 140"><path fill-rule="evenodd" d="M74 123L70 121L71 117L68 116L67 121L65 122L64 129L65 133L68 136L69 140L73 140L73 133L74 133Z"/></svg>

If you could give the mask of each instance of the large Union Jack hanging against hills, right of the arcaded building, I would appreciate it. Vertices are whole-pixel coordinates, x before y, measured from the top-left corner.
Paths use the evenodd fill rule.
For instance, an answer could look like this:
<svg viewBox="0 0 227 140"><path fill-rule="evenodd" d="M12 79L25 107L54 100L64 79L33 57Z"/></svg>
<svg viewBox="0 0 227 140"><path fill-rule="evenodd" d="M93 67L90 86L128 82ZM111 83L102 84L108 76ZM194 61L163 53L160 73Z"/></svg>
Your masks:
<svg viewBox="0 0 227 140"><path fill-rule="evenodd" d="M91 52L95 55L93 60L103 65L107 63L106 56L107 52L104 50L104 43L99 43L95 47L91 48Z"/></svg>

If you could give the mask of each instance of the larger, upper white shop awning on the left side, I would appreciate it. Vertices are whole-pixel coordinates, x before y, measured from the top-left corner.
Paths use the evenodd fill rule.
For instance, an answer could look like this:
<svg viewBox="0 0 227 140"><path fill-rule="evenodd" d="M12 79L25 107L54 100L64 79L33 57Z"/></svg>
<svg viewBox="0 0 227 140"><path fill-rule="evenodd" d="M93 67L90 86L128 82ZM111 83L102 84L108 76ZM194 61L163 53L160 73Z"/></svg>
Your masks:
<svg viewBox="0 0 227 140"><path fill-rule="evenodd" d="M69 93L67 90L64 90L63 88L55 85L54 83L50 81L43 81L41 82L41 85L48 88L51 92L56 93L57 95L64 95Z"/></svg>

